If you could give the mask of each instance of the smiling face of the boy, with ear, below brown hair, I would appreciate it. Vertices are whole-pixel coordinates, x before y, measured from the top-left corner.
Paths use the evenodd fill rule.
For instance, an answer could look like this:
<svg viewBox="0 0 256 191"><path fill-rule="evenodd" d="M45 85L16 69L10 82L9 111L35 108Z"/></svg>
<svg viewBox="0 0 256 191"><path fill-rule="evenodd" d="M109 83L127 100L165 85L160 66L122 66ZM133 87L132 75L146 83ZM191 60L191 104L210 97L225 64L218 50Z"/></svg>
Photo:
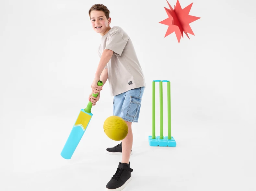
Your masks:
<svg viewBox="0 0 256 191"><path fill-rule="evenodd" d="M111 18L107 19L103 11L91 11L91 24L96 33L105 35L109 31Z"/></svg>

